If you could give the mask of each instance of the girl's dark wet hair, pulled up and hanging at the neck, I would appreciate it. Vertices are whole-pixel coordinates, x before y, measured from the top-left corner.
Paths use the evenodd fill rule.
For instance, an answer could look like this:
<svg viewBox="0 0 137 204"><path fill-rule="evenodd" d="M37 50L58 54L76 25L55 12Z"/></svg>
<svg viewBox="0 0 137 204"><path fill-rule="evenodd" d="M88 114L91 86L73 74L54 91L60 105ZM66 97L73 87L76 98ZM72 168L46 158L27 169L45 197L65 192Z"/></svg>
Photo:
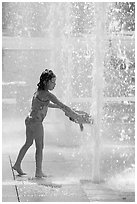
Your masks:
<svg viewBox="0 0 137 204"><path fill-rule="evenodd" d="M46 83L48 83L48 81L50 81L54 77L56 77L56 75L52 70L45 69L40 76L39 83L37 84L38 90L44 90L45 84L43 82L45 81Z"/></svg>

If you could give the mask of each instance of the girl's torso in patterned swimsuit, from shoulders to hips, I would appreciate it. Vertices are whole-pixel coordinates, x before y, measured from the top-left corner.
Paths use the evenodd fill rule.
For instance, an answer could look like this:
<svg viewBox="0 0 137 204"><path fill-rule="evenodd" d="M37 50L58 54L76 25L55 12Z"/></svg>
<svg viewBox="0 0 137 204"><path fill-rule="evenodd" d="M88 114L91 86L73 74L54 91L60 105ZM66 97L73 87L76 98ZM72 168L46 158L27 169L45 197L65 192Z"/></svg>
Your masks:
<svg viewBox="0 0 137 204"><path fill-rule="evenodd" d="M48 104L49 99L46 98L46 95L43 95L42 92L39 91L35 92L32 99L31 111L27 120L32 122L42 122L47 115Z"/></svg>

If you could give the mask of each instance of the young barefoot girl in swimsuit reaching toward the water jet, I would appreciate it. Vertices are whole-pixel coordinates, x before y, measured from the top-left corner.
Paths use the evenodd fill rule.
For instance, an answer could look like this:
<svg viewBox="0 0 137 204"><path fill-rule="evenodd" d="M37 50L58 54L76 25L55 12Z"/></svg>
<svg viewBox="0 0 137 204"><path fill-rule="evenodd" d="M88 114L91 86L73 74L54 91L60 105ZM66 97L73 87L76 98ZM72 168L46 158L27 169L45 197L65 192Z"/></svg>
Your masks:
<svg viewBox="0 0 137 204"><path fill-rule="evenodd" d="M12 167L20 175L25 175L21 169L21 162L24 158L27 150L33 144L35 140L36 153L36 171L35 177L46 177L42 171L42 158L43 158L43 146L44 146L44 131L43 131L43 120L47 115L48 107L59 108L65 112L65 115L72 121L79 124L90 123L91 121L84 114L72 110L65 104L63 104L58 98L53 95L50 91L54 89L56 85L56 75L52 70L46 69L40 76L40 82L37 84L38 89L34 93L32 99L31 111L25 119L26 125L26 141L20 149L17 160Z"/></svg>

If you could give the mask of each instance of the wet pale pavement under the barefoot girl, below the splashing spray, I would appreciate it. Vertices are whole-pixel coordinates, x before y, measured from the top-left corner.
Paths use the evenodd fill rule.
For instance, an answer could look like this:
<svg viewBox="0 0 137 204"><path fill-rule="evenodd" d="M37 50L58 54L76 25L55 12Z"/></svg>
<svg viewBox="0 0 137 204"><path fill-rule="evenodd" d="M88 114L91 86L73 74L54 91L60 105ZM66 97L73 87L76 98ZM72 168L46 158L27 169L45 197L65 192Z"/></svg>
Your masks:
<svg viewBox="0 0 137 204"><path fill-rule="evenodd" d="M111 188L106 182L93 183L85 174L74 149L47 147L44 151L43 169L47 178L36 179L34 150L23 160L27 176L12 172L16 154L3 152L2 201L3 202L134 202L133 186L128 190ZM76 150L75 150L76 151ZM10 161L11 160L11 161ZM86 163L84 164L84 166ZM86 168L86 166L85 166Z"/></svg>

